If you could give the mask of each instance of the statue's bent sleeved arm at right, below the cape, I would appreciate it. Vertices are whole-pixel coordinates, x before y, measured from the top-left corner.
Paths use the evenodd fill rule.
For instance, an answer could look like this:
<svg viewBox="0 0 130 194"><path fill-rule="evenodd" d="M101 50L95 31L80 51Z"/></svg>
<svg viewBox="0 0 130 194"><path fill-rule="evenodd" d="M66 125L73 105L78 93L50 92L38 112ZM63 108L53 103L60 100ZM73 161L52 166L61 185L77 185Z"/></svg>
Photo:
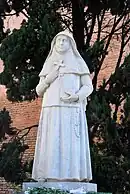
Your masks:
<svg viewBox="0 0 130 194"><path fill-rule="evenodd" d="M93 85L90 75L82 75L81 76L81 88L77 92L79 97L79 101L83 101L87 98L93 91Z"/></svg>

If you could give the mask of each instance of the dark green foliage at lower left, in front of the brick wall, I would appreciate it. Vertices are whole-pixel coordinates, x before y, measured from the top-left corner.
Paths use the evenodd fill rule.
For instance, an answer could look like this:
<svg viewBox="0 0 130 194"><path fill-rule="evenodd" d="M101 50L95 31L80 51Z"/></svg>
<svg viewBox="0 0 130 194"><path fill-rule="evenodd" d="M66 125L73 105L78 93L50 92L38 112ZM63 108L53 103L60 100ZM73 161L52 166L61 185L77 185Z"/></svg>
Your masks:
<svg viewBox="0 0 130 194"><path fill-rule="evenodd" d="M11 124L11 116L4 108L0 111L0 177L20 184L23 180L30 179L32 168L32 161L23 161L23 154L29 148L24 137L37 125L19 130Z"/></svg>

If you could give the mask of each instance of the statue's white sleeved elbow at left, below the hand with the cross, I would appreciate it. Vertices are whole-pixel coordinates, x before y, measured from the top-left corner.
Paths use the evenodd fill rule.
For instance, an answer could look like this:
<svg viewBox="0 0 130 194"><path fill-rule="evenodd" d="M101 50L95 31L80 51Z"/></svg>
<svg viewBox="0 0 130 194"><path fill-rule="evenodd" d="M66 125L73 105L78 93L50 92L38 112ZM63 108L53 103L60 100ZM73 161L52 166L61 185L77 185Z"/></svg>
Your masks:
<svg viewBox="0 0 130 194"><path fill-rule="evenodd" d="M37 95L42 97L46 89L49 87L49 84L46 83L46 79L44 76L40 77L39 84L36 87Z"/></svg>

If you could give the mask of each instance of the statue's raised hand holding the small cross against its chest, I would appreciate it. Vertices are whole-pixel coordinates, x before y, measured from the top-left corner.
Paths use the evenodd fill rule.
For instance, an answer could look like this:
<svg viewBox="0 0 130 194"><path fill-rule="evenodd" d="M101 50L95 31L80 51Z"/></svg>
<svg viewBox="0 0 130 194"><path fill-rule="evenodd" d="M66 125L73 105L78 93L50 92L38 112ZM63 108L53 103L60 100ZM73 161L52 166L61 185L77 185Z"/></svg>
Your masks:
<svg viewBox="0 0 130 194"><path fill-rule="evenodd" d="M51 84L58 77L58 74L59 74L59 67L54 66L54 69L45 78L45 82L47 84Z"/></svg>

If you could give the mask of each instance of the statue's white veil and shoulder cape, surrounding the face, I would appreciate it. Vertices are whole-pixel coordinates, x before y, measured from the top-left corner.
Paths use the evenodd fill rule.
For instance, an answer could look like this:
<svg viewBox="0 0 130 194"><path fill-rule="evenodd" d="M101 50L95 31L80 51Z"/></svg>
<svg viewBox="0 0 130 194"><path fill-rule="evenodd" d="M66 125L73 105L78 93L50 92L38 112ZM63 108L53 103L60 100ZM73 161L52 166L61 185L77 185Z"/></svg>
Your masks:
<svg viewBox="0 0 130 194"><path fill-rule="evenodd" d="M55 42L56 38L60 35L67 36L70 40L70 49L67 51L65 54L59 54L56 49L55 49ZM76 42L72 36L72 34L65 30L62 32L59 32L52 40L51 43L51 50L48 54L48 57L43 65L43 68L39 74L40 77L48 75L53 67L54 63L57 62L58 60L63 60L67 66L66 72L65 73L74 73L78 75L85 75L89 74L89 69L81 55L79 54L76 46Z"/></svg>

